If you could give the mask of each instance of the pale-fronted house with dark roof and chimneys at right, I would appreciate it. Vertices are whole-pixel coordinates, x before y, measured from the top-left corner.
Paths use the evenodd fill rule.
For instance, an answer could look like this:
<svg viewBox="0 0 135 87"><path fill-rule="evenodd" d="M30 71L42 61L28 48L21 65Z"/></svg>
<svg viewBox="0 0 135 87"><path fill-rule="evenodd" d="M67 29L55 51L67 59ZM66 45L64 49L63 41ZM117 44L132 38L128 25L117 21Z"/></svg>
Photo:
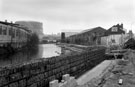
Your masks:
<svg viewBox="0 0 135 87"><path fill-rule="evenodd" d="M101 37L101 45L122 45L124 43L125 34L126 31L123 29L123 24L114 25Z"/></svg>

